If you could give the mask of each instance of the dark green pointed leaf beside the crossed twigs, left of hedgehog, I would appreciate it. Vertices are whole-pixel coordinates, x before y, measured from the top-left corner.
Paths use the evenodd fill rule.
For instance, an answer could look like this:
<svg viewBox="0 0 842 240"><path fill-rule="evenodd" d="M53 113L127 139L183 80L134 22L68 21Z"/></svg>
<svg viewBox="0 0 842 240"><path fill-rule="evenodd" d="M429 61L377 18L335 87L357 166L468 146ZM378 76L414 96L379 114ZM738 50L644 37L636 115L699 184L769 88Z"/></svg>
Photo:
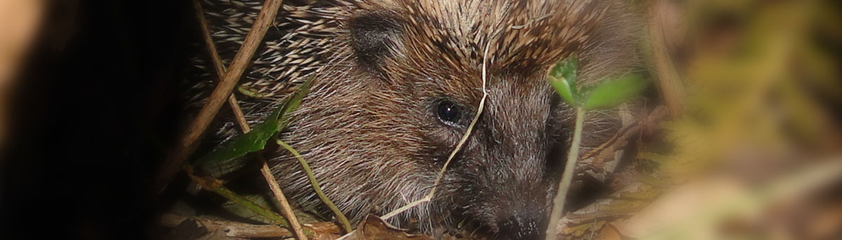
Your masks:
<svg viewBox="0 0 842 240"><path fill-rule="evenodd" d="M215 177L231 173L248 164L242 156L257 152L266 147L274 133L286 128L289 123L289 113L295 111L301 104L301 99L310 91L312 78L299 86L296 93L286 99L280 107L276 108L269 116L252 128L251 132L242 134L225 145L217 147L196 160L195 166L200 167Z"/></svg>

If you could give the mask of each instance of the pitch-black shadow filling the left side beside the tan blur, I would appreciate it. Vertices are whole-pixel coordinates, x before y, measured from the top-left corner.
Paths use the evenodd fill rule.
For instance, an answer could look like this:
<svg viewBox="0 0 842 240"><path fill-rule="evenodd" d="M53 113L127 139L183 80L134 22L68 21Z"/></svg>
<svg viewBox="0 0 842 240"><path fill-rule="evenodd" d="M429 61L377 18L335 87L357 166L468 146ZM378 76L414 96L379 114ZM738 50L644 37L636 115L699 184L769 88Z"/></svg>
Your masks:
<svg viewBox="0 0 842 240"><path fill-rule="evenodd" d="M178 133L176 87L198 33L190 6L51 6L11 103L0 239L148 238L149 185Z"/></svg>

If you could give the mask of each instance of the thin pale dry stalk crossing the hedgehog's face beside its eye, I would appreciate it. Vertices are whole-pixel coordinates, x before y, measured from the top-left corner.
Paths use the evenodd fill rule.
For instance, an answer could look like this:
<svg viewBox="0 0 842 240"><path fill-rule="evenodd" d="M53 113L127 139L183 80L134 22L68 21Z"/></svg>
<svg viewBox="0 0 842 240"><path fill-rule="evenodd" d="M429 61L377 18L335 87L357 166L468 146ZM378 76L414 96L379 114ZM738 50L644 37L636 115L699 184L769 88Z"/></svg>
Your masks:
<svg viewBox="0 0 842 240"><path fill-rule="evenodd" d="M479 107L477 107L477 114L474 115L473 119L471 120L471 124L468 125L468 129L465 131L465 135L462 135L462 138L459 140L459 143L456 144L456 148L453 149L453 151L450 152L450 156L447 157L447 160L445 161L445 165L441 167L441 170L439 171L439 175L436 176L435 181L433 182L433 186L430 187L429 193L427 194L427 196L424 196L423 198L421 198L417 201L410 202L406 206L402 206L402 207L396 209L395 211L390 211L389 213L386 213L386 215L383 215L382 217L380 217L383 221L389 220L390 218L397 216L401 212L407 211L410 208L418 206L418 205L420 205L424 202L431 201L433 199L433 197L435 196L436 186L438 186L441 179L444 178L445 170L447 170L447 165L450 164L450 160L452 160L456 156L456 153L458 153L459 150L462 149L462 145L464 145L465 142L467 142L468 137L471 136L471 132L472 132L474 126L477 125L477 122L479 121L479 116L482 115L482 110L485 108L485 100L488 98L488 91L486 90L486 81L488 80L487 61L488 61L488 47L490 45L491 45L491 39L488 39L488 42L485 44L485 53L482 55L482 99L479 101Z"/></svg>

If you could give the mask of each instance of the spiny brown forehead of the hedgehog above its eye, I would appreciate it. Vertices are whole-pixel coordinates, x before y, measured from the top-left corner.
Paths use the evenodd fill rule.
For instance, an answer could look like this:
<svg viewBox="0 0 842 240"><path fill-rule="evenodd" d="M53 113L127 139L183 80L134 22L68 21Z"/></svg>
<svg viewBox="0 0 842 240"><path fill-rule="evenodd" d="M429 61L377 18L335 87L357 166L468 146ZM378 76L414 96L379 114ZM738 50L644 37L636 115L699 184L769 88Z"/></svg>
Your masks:
<svg viewBox="0 0 842 240"><path fill-rule="evenodd" d="M536 76L593 41L589 31L605 13L605 2L385 0L364 13L383 13L397 23L388 41L392 54L382 66L392 84L409 80L478 102L483 60L490 84L546 85Z"/></svg>

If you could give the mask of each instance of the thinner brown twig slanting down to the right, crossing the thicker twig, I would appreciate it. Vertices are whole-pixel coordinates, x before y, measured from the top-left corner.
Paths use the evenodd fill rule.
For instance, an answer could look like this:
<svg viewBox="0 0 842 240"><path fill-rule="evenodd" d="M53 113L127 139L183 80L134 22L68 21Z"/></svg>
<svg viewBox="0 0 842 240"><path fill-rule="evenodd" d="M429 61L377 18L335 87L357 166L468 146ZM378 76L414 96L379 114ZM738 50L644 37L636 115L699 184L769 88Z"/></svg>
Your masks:
<svg viewBox="0 0 842 240"><path fill-rule="evenodd" d="M214 69L216 69L216 74L217 76L223 77L226 73L225 65L222 63L222 58L220 57L219 52L216 51L216 44L214 44L213 39L210 37L210 29L208 29L207 19L205 18L205 10L202 9L202 4L199 3L199 0L193 0L193 5L195 7L196 18L199 18L200 29L202 30L202 35L205 37L205 45L208 47L208 53L210 54L210 59L213 62ZM250 132L251 128L248 126L246 117L242 114L242 110L240 110L240 105L237 103L237 98L234 97L234 94L231 94L231 96L228 97L228 103L231 105L234 116L237 117L237 123L240 124L242 133ZM301 229L301 223L298 222L296 214L292 211L290 202L286 201L286 196L284 196L284 192L280 190L280 185L278 185L278 182L274 180L274 176L269 170L269 165L266 164L265 160L262 162L263 166L260 168L260 173L264 176L266 183L269 184L269 189L272 190L274 198L280 204L281 214L283 214L287 221L290 222L290 227L292 227L293 232L296 232L296 237L300 240L307 240L307 236Z"/></svg>

